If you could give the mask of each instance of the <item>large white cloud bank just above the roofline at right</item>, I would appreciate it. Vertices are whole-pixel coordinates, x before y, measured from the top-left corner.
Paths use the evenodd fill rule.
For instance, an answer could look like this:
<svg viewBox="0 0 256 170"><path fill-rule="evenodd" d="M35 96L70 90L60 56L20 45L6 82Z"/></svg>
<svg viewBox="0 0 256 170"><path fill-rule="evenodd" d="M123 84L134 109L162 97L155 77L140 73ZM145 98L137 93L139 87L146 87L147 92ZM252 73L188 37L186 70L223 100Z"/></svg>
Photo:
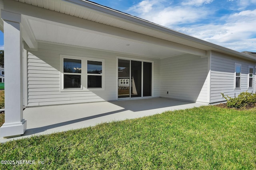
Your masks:
<svg viewBox="0 0 256 170"><path fill-rule="evenodd" d="M178 31L215 43L230 49L241 51L244 48L256 48L256 10L246 10L231 14L223 25L194 25L176 28ZM245 50L242 50L245 51Z"/></svg>

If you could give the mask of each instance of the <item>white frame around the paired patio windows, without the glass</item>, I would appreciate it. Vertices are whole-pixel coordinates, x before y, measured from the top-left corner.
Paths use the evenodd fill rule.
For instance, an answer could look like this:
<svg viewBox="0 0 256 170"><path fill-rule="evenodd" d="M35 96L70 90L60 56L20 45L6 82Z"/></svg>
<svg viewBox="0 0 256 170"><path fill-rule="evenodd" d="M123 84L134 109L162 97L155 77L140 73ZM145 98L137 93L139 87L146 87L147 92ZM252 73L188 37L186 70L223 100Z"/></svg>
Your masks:
<svg viewBox="0 0 256 170"><path fill-rule="evenodd" d="M64 59L77 59L81 60L81 88L65 88L64 89L64 70L63 64ZM95 75L95 74L88 74L87 73L87 61L99 61L102 62L102 87L101 88L88 88L88 75ZM99 75L98 75L99 76ZM78 57L72 55L60 55L60 92L80 92L80 91L98 91L98 90L105 90L105 60L104 59L95 59L90 57Z"/></svg>

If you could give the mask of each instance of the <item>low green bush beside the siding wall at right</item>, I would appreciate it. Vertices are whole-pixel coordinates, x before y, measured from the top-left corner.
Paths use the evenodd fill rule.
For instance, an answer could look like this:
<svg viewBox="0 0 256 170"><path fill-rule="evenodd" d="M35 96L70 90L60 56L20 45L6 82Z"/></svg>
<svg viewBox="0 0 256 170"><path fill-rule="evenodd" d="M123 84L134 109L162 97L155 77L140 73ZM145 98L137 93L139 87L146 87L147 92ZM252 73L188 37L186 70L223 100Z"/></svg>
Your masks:
<svg viewBox="0 0 256 170"><path fill-rule="evenodd" d="M221 95L227 100L228 107L242 108L256 103L256 94L251 94L247 91L240 93L236 98L231 98L228 95L224 96L223 93Z"/></svg>

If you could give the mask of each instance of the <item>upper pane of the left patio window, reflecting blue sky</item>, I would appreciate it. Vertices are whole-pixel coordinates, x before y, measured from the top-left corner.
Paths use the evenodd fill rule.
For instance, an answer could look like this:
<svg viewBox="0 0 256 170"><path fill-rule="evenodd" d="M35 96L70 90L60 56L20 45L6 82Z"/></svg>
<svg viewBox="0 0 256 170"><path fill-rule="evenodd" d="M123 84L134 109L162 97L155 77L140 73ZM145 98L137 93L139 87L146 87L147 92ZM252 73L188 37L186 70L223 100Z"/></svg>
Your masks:
<svg viewBox="0 0 256 170"><path fill-rule="evenodd" d="M81 73L81 60L64 59L63 71L69 73Z"/></svg>

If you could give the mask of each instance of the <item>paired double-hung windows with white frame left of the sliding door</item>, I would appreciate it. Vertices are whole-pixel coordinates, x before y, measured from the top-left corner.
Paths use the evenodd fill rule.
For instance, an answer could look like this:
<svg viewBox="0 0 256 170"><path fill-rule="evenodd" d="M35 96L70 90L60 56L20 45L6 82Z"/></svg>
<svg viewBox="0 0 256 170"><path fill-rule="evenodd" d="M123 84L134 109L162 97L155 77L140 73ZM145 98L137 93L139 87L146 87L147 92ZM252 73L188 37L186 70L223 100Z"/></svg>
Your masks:
<svg viewBox="0 0 256 170"><path fill-rule="evenodd" d="M104 88L104 60L60 55L60 91Z"/></svg>

